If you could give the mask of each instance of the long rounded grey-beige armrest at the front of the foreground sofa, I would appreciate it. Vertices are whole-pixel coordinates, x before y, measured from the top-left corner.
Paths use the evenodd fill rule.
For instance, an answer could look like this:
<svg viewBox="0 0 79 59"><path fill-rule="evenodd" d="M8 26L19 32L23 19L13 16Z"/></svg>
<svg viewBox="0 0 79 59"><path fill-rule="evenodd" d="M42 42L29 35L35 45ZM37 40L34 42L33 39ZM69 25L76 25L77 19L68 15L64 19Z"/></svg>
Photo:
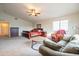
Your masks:
<svg viewBox="0 0 79 59"><path fill-rule="evenodd" d="M78 54L70 54L70 53L55 51L44 45L41 45L39 47L39 53L41 53L44 56L77 56L78 55Z"/></svg>

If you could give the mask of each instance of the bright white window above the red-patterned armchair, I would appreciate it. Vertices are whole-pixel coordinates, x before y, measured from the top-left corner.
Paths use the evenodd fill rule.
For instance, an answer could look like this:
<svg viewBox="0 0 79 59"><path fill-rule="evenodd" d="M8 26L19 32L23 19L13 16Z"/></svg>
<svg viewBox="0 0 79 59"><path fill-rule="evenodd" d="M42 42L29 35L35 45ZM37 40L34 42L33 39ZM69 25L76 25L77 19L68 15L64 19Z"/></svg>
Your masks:
<svg viewBox="0 0 79 59"><path fill-rule="evenodd" d="M59 20L53 22L53 31L63 29L68 31L68 20Z"/></svg>

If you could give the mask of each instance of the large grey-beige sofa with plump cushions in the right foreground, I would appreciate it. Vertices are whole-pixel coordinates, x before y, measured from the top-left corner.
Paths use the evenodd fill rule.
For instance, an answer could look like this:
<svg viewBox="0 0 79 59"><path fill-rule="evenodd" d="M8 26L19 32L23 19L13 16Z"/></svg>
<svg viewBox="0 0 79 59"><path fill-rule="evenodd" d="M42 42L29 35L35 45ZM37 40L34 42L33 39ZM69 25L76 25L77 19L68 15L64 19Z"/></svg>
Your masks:
<svg viewBox="0 0 79 59"><path fill-rule="evenodd" d="M43 41L43 45L41 45L39 47L39 53L41 53L43 56L78 56L79 55L79 35L77 38L72 37L72 39L67 40L68 38L66 38L67 44L63 45L65 52L59 51L62 49L62 46L58 43L55 43L51 40L44 40ZM77 40L78 39L78 40ZM63 40L62 40L63 41ZM74 43L77 42L77 43ZM70 46L70 45L74 45L74 46ZM67 51L67 47L70 46L70 51ZM74 47L76 49L74 49ZM63 49L62 49L63 50Z"/></svg>

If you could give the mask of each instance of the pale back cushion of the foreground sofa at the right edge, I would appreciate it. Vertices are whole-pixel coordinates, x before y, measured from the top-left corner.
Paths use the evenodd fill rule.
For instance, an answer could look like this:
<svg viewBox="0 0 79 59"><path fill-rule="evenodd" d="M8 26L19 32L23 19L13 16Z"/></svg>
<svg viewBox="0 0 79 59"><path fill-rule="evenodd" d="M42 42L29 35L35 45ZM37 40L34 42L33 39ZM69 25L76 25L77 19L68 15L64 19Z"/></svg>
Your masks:
<svg viewBox="0 0 79 59"><path fill-rule="evenodd" d="M62 49L62 52L68 53L79 53L79 36L74 36L75 38L70 41L65 48Z"/></svg>

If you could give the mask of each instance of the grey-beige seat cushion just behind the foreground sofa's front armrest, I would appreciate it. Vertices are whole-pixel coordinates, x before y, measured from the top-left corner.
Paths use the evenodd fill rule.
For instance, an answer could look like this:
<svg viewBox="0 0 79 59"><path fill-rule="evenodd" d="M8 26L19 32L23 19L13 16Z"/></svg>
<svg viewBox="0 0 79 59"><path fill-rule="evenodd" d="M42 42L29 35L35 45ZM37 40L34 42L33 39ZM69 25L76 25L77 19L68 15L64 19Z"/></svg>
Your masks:
<svg viewBox="0 0 79 59"><path fill-rule="evenodd" d="M52 41L52 40L44 40L44 45L48 48L51 48L53 50L59 50L61 48L60 45L58 45L56 42Z"/></svg>

